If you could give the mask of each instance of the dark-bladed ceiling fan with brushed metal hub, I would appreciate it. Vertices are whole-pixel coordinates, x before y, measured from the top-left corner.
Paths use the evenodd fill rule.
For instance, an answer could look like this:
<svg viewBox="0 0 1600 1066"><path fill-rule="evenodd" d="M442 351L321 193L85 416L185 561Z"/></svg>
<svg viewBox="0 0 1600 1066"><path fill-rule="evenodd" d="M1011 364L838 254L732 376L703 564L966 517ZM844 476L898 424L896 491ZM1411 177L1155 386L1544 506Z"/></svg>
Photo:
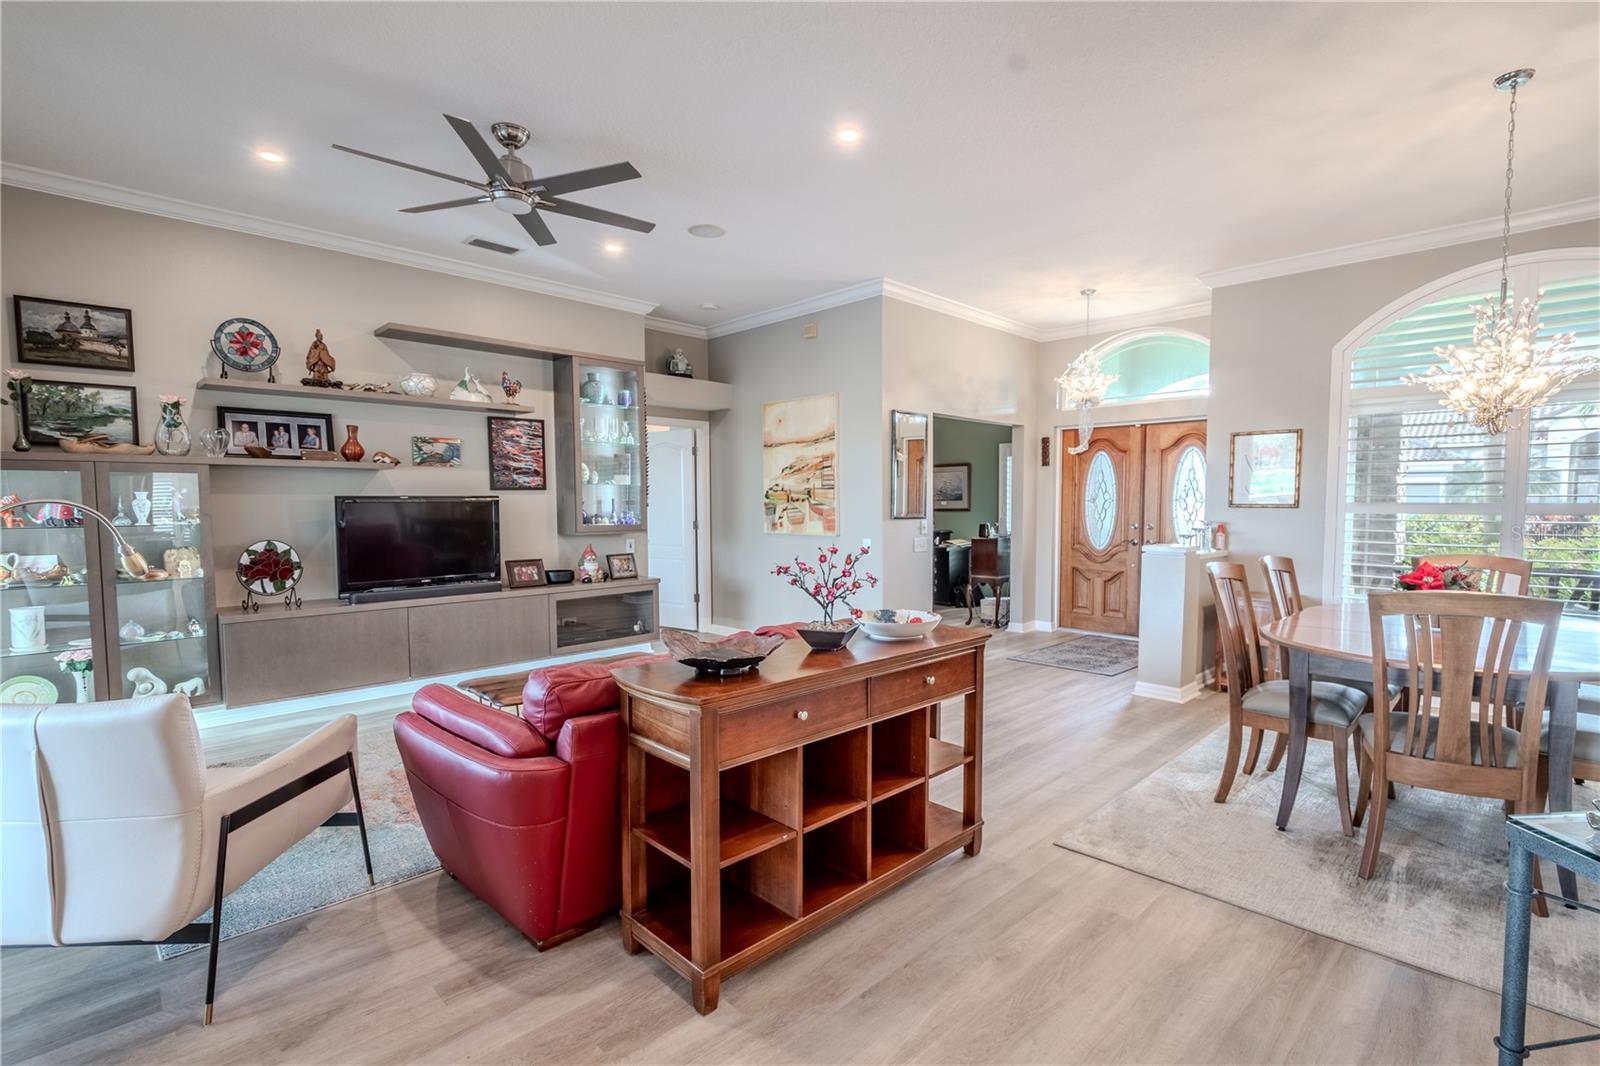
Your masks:
<svg viewBox="0 0 1600 1066"><path fill-rule="evenodd" d="M478 166L483 168L483 181L458 178L438 170L429 170L427 166L418 166L416 163L402 163L397 158L374 155L371 152L346 147L342 144L334 144L333 147L341 152L349 152L350 155L374 158L379 163L403 166L421 174L432 174L434 178L443 178L445 181L454 181L478 190L478 195L467 197L464 200L445 200L442 203L424 203L414 208L400 208L405 214L448 211L450 208L472 206L475 203L493 203L496 210L515 214L517 221L525 230L528 230L528 235L533 237L538 245L555 243L555 234L552 234L550 227L546 226L542 218L539 218L539 211L582 218L590 222L600 222L602 226L621 226L622 229L638 230L640 234L648 234L656 227L654 222L646 222L640 218L629 218L627 214L618 214L616 211L602 211L600 208L560 198L568 192L598 189L600 186L610 186L619 181L632 181L634 178L638 178L638 171L632 163L611 163L610 166L590 166L589 170L574 170L552 178L534 178L533 168L517 158L517 149L528 144L528 126L518 126L515 122L496 122L490 126L494 133L494 139L506 149L504 155L494 155L494 149L490 147L490 142L483 139L483 134L478 133L470 122L466 118L456 118L454 115L445 115L445 122L450 123L450 128L456 131L456 136L459 136L467 146L467 150L472 152L472 158L475 158Z"/></svg>

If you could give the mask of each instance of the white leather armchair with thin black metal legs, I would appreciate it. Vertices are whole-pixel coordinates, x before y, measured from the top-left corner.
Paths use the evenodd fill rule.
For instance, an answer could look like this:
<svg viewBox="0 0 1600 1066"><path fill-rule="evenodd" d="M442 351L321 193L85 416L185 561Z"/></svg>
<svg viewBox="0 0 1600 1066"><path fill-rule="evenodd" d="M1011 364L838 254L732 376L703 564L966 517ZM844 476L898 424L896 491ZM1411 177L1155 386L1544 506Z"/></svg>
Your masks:
<svg viewBox="0 0 1600 1066"><path fill-rule="evenodd" d="M328 824L360 828L373 879L349 714L206 768L182 695L0 704L0 943L210 943L206 1024L229 892Z"/></svg>

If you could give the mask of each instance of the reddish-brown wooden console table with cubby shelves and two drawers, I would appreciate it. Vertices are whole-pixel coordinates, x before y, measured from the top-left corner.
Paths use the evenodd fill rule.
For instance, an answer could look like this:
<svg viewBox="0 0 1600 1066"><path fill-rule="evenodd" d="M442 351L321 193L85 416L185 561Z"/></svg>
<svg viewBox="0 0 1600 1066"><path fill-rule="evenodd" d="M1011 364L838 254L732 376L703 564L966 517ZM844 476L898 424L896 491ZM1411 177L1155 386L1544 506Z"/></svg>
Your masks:
<svg viewBox="0 0 1600 1066"><path fill-rule="evenodd" d="M984 643L858 635L778 648L758 672L702 680L677 663L616 671L627 728L622 944L648 948L717 1008L722 978L982 845ZM938 706L966 698L962 744ZM928 799L962 770L962 810Z"/></svg>

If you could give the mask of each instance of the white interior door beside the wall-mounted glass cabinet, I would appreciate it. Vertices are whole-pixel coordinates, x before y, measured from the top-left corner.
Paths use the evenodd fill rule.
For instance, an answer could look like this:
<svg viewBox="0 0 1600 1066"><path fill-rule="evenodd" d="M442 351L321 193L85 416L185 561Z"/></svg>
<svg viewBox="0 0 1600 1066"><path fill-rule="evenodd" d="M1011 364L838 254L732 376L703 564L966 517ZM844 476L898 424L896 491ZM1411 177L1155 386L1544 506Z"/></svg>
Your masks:
<svg viewBox="0 0 1600 1066"><path fill-rule="evenodd" d="M650 434L650 576L661 579L661 624L699 629L696 560L694 431L685 426Z"/></svg>

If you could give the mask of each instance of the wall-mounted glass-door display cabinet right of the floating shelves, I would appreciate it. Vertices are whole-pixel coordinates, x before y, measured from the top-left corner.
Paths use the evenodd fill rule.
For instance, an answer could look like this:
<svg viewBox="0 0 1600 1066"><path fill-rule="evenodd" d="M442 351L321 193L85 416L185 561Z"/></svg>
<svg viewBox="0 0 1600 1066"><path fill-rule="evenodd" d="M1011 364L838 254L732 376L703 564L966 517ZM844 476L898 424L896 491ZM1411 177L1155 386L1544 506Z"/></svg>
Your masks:
<svg viewBox="0 0 1600 1066"><path fill-rule="evenodd" d="M555 363L562 531L645 528L645 368L587 355Z"/></svg>

